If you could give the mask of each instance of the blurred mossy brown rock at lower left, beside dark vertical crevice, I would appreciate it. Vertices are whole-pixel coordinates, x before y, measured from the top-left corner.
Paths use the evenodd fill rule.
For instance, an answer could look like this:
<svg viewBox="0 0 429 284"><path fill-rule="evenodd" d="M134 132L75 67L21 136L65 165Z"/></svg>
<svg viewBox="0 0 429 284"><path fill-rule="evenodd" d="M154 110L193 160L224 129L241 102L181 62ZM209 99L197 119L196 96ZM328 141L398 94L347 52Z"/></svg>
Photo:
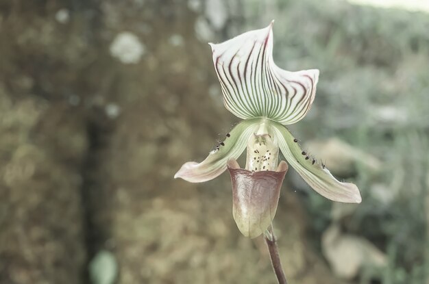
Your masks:
<svg viewBox="0 0 429 284"><path fill-rule="evenodd" d="M79 283L82 121L42 99L14 101L4 89L0 101L0 283Z"/></svg>

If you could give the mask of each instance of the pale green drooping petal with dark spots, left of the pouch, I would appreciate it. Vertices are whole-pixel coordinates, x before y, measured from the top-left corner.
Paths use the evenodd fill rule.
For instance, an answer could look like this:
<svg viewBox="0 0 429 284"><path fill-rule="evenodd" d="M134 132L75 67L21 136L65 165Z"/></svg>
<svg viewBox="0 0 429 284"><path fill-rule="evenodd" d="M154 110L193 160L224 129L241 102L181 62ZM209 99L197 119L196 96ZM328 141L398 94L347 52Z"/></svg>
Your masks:
<svg viewBox="0 0 429 284"><path fill-rule="evenodd" d="M201 162L187 162L176 172L174 178L181 178L191 183L210 181L226 170L226 163L230 157L237 159L243 153L250 135L254 133L260 123L260 118L243 120L238 123L227 138L208 154Z"/></svg>

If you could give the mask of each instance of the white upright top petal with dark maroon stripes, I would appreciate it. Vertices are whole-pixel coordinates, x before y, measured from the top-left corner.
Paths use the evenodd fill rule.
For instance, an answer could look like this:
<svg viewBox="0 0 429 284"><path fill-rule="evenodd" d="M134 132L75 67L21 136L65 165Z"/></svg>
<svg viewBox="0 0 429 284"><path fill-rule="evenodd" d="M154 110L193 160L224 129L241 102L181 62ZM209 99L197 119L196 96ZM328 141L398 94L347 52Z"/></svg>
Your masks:
<svg viewBox="0 0 429 284"><path fill-rule="evenodd" d="M211 44L225 107L239 118L265 116L283 125L306 115L319 70L290 72L273 62L272 22L265 29Z"/></svg>

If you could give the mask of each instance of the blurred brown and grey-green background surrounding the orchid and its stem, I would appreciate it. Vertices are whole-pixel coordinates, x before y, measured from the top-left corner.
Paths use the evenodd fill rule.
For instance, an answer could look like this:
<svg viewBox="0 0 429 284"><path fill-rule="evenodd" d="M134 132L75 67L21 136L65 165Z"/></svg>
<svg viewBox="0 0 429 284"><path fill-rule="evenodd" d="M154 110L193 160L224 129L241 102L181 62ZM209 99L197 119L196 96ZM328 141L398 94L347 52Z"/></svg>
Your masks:
<svg viewBox="0 0 429 284"><path fill-rule="evenodd" d="M275 283L228 174L173 179L238 121L207 42L275 19L275 62L321 71L290 129L363 195L332 203L289 170L289 281L428 284L428 1L359 2L1 0L0 283Z"/></svg>

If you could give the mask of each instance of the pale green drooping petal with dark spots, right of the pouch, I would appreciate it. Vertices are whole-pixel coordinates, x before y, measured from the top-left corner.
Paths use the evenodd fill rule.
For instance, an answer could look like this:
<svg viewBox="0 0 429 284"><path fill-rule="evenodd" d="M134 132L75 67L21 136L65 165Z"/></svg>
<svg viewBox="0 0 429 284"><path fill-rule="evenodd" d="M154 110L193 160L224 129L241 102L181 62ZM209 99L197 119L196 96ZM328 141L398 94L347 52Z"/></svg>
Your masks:
<svg viewBox="0 0 429 284"><path fill-rule="evenodd" d="M337 181L323 164L313 162L312 157L302 151L286 127L276 122L273 122L272 126L275 138L278 139L280 151L313 190L332 201L343 203L360 203L362 201L356 185Z"/></svg>

